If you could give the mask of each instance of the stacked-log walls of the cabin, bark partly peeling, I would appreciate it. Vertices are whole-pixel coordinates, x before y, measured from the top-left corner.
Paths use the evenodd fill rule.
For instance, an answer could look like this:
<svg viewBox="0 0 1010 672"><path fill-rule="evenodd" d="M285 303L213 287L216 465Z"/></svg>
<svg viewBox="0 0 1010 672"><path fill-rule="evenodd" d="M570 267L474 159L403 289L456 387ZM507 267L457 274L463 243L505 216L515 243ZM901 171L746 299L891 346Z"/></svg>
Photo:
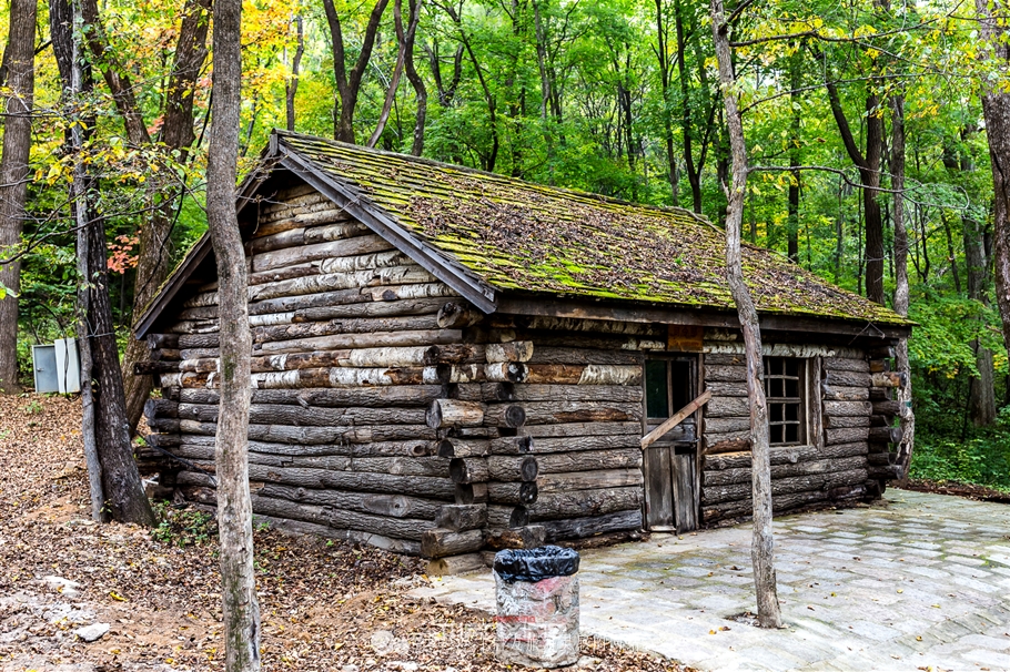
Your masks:
<svg viewBox="0 0 1010 672"><path fill-rule="evenodd" d="M666 326L486 317L306 186L260 207L246 254L257 516L443 571L488 548L642 529L643 363L666 352ZM141 457L213 505L216 284L173 317L139 366L162 393ZM705 338L697 482L713 523L750 510L749 410L737 337ZM879 493L902 381L863 350L769 347L810 367L808 440L772 450L776 511Z"/></svg>

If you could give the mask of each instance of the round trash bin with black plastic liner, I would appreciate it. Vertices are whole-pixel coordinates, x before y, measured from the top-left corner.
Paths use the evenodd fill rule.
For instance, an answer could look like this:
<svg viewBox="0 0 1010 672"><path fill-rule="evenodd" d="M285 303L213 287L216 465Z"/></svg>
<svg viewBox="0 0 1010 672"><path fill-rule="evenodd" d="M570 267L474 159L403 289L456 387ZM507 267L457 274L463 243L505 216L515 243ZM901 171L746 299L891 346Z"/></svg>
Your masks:
<svg viewBox="0 0 1010 672"><path fill-rule="evenodd" d="M560 668L578 661L578 553L543 546L495 556L495 658Z"/></svg>

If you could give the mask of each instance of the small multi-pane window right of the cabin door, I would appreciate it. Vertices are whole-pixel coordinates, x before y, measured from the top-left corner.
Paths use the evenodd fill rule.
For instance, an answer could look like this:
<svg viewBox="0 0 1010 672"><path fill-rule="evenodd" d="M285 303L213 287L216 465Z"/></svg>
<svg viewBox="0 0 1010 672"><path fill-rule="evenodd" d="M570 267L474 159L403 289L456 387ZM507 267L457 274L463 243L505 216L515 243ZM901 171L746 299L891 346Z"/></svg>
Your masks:
<svg viewBox="0 0 1010 672"><path fill-rule="evenodd" d="M765 393L772 446L798 446L807 440L807 362L765 357Z"/></svg>

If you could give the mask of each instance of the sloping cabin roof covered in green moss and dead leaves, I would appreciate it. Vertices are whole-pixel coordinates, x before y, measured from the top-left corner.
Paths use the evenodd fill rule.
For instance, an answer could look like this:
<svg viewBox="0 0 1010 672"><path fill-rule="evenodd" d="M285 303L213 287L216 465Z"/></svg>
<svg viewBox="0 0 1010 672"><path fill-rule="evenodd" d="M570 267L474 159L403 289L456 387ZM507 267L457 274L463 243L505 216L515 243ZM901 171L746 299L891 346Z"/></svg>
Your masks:
<svg viewBox="0 0 1010 672"><path fill-rule="evenodd" d="M734 309L725 236L688 211L305 135L279 139L498 289ZM744 274L762 313L909 324L768 250L745 246Z"/></svg>

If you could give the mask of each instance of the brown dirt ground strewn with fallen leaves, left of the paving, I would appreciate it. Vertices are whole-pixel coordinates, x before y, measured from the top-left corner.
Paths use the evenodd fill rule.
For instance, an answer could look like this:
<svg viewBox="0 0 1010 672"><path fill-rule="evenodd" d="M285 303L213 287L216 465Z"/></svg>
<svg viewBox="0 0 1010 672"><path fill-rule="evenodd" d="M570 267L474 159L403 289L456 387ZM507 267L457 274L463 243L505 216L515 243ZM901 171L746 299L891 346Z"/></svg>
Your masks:
<svg viewBox="0 0 1010 672"><path fill-rule="evenodd" d="M77 399L0 396L0 672L223 669L216 530L161 507L155 530L94 525ZM416 560L255 536L264 670L505 670L494 623L418 601ZM87 643L74 631L105 623ZM584 638L580 669L684 670Z"/></svg>

